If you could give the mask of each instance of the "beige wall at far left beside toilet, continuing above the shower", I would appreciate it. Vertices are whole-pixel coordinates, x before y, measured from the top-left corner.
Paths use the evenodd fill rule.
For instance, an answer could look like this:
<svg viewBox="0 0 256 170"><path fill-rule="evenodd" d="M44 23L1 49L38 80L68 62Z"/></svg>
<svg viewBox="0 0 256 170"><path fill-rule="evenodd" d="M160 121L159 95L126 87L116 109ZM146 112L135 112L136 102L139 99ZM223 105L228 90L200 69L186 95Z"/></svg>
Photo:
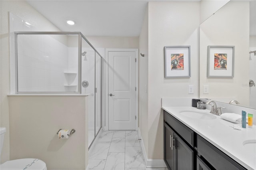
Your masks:
<svg viewBox="0 0 256 170"><path fill-rule="evenodd" d="M32 26L38 28L39 31L59 31L44 16L38 13L34 8L26 3L26 1L1 0L0 1L0 23L1 23L1 91L0 91L0 126L6 127L7 132L4 137L4 146L1 153L1 163L9 160L9 109L8 97L10 93L10 52L9 52L9 28L8 28L8 12L30 22Z"/></svg>

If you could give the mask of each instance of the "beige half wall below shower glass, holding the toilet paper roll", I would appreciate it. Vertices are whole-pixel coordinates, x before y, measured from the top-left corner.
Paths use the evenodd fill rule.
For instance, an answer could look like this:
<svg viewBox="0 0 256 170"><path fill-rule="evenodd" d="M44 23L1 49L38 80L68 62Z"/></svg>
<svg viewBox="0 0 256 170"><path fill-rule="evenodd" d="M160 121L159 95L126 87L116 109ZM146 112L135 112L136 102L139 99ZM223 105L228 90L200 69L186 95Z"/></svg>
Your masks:
<svg viewBox="0 0 256 170"><path fill-rule="evenodd" d="M11 160L38 158L48 170L86 168L85 96L9 96L9 111ZM59 139L60 128L76 132Z"/></svg>

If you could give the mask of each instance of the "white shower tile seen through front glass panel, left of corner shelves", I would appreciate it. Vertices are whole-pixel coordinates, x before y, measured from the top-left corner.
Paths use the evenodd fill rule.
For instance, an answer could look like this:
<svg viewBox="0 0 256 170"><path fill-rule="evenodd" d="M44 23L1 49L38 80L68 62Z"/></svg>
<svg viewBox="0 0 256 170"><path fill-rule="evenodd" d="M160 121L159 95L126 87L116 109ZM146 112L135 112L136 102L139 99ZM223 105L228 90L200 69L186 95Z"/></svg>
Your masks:
<svg viewBox="0 0 256 170"><path fill-rule="evenodd" d="M18 90L64 91L64 70L68 67L66 45L50 35L18 35L20 38Z"/></svg>

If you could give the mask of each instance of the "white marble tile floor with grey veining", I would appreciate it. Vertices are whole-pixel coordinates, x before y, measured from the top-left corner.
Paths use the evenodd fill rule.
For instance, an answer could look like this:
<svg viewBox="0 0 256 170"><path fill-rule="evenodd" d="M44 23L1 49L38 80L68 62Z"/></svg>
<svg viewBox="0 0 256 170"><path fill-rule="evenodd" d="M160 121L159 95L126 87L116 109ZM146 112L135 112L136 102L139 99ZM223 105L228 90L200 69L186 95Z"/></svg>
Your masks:
<svg viewBox="0 0 256 170"><path fill-rule="evenodd" d="M146 168L137 131L103 131L90 152L87 170L167 170L167 168Z"/></svg>

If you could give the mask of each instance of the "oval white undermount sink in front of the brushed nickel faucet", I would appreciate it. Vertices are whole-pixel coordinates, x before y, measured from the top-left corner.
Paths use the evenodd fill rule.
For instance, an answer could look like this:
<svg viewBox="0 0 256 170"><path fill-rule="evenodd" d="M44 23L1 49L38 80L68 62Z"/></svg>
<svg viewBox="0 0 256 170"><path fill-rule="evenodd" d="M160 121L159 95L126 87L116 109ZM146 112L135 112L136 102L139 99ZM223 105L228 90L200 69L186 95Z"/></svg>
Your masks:
<svg viewBox="0 0 256 170"><path fill-rule="evenodd" d="M206 119L206 120L216 119L215 115L212 115L206 112L200 112L200 111L180 111L180 115L190 117L193 119Z"/></svg>

